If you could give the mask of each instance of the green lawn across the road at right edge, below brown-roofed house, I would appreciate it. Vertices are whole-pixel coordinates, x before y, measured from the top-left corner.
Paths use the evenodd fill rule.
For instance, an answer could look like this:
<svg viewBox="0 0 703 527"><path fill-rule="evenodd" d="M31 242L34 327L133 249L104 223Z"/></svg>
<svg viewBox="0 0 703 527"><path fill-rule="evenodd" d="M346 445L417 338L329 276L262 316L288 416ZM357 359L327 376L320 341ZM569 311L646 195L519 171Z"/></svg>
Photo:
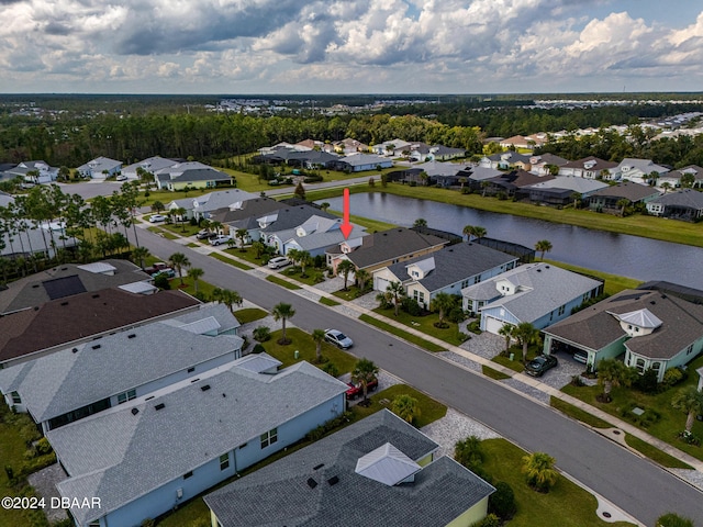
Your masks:
<svg viewBox="0 0 703 527"><path fill-rule="evenodd" d="M690 374L687 381L665 391L663 393L647 395L635 389L614 388L611 393L613 401L607 404L601 403L596 400L596 396L603 391L603 389L599 385L573 386L571 384L568 384L562 389L562 391L565 393L568 393L569 395L580 399L588 404L601 408L604 412L627 421L628 423L638 426L639 428L646 430L648 434L651 434L662 441L672 445L679 450L683 450L694 458L703 460L703 447L687 445L685 442L679 440L678 434L683 430L683 426L685 424L685 414L683 412L674 410L671 406L671 399L681 388L689 385L694 386L698 384L698 374L695 373L695 369L700 368L701 366L703 366L703 356L693 360L689 365L688 371L690 372ZM627 412L627 410L631 408L632 405L637 405L638 407L643 408L645 411L645 416L658 413L660 417L655 423L643 427L634 421L633 413ZM695 421L693 423L692 431L698 437L703 438L703 422Z"/></svg>

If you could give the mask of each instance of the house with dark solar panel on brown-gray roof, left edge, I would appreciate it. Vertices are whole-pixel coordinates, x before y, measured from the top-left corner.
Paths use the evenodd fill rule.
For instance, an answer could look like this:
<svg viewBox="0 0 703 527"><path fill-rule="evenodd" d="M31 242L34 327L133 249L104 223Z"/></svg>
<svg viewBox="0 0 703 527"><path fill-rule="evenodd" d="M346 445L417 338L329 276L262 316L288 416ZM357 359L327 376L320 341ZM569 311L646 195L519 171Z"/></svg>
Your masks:
<svg viewBox="0 0 703 527"><path fill-rule="evenodd" d="M108 259L92 264L63 264L9 283L0 291L0 314L42 305L74 294L145 284L142 294L152 294L152 277L129 260Z"/></svg>

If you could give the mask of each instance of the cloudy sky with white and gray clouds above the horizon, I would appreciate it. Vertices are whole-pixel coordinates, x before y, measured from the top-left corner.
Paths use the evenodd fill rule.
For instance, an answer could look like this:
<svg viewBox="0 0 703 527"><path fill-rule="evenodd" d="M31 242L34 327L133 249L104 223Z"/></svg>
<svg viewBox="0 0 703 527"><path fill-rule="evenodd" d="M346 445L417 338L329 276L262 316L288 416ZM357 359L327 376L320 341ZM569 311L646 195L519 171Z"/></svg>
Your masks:
<svg viewBox="0 0 703 527"><path fill-rule="evenodd" d="M0 0L0 92L695 91L698 0Z"/></svg>

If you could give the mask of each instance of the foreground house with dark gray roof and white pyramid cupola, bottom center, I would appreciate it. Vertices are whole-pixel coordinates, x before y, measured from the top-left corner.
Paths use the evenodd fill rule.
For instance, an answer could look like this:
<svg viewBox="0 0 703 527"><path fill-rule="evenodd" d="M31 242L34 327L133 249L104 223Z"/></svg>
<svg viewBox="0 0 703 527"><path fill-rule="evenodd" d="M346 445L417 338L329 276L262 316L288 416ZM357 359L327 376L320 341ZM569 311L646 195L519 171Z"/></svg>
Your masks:
<svg viewBox="0 0 703 527"><path fill-rule="evenodd" d="M494 489L388 410L204 497L212 527L469 527ZM361 506L360 504L365 504Z"/></svg>

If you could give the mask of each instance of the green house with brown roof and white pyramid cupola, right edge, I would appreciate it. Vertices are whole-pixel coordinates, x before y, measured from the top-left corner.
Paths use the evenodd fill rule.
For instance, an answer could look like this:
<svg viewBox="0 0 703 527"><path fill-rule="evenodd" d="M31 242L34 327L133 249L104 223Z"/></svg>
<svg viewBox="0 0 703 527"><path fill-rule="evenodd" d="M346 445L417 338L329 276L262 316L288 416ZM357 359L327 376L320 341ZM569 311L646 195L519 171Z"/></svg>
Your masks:
<svg viewBox="0 0 703 527"><path fill-rule="evenodd" d="M703 305L661 291L625 290L545 329L546 354L582 350L598 368L624 354L639 373L688 365L703 350Z"/></svg>

